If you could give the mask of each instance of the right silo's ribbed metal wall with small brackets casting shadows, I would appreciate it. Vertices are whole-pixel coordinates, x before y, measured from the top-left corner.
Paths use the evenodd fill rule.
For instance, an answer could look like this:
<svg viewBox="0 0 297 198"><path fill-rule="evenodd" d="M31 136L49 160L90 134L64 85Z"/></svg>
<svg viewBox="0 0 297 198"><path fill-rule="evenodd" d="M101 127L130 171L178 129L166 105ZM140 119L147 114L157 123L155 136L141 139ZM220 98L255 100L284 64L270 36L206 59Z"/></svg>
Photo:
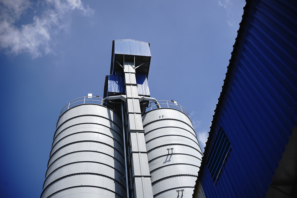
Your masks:
<svg viewBox="0 0 297 198"><path fill-rule="evenodd" d="M143 115L143 126L154 197L192 197L202 153L190 119L159 108Z"/></svg>

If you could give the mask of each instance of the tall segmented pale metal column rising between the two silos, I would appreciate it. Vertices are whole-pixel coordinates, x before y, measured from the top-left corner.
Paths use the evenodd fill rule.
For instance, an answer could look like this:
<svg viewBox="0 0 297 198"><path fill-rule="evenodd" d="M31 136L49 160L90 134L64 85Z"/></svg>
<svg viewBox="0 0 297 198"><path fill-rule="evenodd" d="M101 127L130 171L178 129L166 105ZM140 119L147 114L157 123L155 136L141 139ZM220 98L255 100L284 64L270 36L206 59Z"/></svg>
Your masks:
<svg viewBox="0 0 297 198"><path fill-rule="evenodd" d="M135 76L135 61L126 62L124 60L126 118L127 118L127 145L130 146L130 184L133 186L131 197L153 197L151 186L151 175L144 139L141 110L139 104L138 89ZM132 187L131 186L131 187Z"/></svg>

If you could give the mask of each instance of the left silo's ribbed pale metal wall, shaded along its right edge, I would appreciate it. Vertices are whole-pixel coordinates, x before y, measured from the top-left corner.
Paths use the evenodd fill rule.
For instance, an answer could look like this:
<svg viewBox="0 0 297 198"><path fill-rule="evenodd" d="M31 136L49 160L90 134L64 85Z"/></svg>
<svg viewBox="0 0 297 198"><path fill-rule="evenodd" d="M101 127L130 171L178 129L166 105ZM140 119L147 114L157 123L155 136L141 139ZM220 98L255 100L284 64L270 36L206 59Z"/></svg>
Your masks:
<svg viewBox="0 0 297 198"><path fill-rule="evenodd" d="M126 197L121 119L82 104L57 123L41 197Z"/></svg>

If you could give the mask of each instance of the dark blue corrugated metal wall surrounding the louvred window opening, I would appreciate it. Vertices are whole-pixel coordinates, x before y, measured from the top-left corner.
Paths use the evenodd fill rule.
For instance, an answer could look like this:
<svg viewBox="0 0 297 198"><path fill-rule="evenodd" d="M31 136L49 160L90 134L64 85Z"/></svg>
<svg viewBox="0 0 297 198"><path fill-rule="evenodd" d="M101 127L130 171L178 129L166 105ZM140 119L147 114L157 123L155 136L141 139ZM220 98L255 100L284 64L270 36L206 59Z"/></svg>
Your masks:
<svg viewBox="0 0 297 198"><path fill-rule="evenodd" d="M297 1L247 1L198 173L206 197L265 197L297 120L296 19ZM232 148L214 185L221 127Z"/></svg>

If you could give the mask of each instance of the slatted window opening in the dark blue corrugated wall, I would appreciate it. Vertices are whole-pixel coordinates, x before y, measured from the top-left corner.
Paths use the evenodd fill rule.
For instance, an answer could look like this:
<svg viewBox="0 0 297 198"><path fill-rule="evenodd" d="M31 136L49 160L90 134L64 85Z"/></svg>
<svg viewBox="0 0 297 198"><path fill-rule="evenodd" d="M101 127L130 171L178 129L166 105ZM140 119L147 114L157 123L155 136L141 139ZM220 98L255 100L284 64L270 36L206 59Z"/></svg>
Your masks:
<svg viewBox="0 0 297 198"><path fill-rule="evenodd" d="M214 183L217 182L219 177L219 173L222 170L225 159L230 151L231 144L224 132L221 128L216 141L214 142L214 146L211 150L207 167L209 169L210 175Z"/></svg>

